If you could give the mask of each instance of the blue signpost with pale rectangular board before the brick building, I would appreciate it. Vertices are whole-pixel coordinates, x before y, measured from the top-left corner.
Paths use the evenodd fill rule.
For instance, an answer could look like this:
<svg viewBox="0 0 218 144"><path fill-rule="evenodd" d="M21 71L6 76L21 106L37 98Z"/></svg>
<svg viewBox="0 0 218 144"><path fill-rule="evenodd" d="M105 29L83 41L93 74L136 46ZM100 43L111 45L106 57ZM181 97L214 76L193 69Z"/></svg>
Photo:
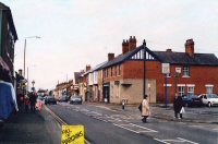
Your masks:
<svg viewBox="0 0 218 144"><path fill-rule="evenodd" d="M167 84L167 80L168 80L168 74L170 74L170 63L162 63L162 74L166 74L166 79L165 79L165 105L167 108L168 105L168 84Z"/></svg>

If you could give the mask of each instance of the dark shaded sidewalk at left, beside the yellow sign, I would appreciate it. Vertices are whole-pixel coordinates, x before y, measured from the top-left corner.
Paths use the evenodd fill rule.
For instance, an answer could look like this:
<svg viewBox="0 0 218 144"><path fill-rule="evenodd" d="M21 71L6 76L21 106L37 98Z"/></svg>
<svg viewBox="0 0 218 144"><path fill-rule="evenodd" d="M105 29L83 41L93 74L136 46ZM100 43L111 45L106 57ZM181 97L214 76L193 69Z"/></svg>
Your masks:
<svg viewBox="0 0 218 144"><path fill-rule="evenodd" d="M45 109L17 112L0 127L0 144L60 144L60 128Z"/></svg>

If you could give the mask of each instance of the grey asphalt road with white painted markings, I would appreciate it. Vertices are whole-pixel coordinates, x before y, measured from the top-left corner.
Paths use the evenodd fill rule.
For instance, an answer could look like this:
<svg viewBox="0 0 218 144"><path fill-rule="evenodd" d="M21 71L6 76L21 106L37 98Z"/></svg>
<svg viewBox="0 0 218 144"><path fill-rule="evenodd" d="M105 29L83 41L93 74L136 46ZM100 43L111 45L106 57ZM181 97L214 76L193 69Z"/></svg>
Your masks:
<svg viewBox="0 0 218 144"><path fill-rule="evenodd" d="M217 144L218 125L185 123L149 118L142 123L141 117L126 115L95 105L48 106L69 124L83 124L85 137L92 144Z"/></svg>

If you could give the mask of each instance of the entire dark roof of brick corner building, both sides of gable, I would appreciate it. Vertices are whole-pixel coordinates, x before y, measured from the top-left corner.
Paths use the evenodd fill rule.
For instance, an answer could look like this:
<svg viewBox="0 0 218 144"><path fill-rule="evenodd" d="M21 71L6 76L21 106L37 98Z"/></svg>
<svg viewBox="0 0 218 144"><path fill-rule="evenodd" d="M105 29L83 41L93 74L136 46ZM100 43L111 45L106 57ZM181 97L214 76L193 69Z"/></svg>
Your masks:
<svg viewBox="0 0 218 144"><path fill-rule="evenodd" d="M121 63L143 48L144 47L142 45L132 51L129 51L124 55L119 55L113 60L104 64L101 69ZM218 59L214 53L194 53L194 57L190 57L186 52L152 51L147 47L145 47L145 49L149 55L155 57L160 62L171 64L218 65Z"/></svg>

